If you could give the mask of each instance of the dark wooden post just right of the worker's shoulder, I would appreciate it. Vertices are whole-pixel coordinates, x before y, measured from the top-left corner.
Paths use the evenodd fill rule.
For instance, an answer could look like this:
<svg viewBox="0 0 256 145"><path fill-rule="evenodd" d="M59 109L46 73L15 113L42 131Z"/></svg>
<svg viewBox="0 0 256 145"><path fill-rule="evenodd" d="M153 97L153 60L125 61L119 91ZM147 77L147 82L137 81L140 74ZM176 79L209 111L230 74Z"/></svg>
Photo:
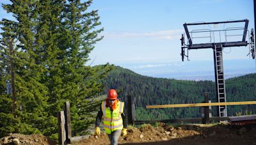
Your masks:
<svg viewBox="0 0 256 145"><path fill-rule="evenodd" d="M127 118L128 118L128 124L133 125L134 124L134 100L131 97L131 95L127 96Z"/></svg>

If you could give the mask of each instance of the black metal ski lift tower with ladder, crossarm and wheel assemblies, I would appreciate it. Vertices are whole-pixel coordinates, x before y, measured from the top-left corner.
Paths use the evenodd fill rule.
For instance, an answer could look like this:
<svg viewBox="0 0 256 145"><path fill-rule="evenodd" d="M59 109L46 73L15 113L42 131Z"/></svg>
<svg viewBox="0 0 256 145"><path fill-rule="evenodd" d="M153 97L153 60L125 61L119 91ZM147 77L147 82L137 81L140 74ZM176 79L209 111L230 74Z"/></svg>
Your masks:
<svg viewBox="0 0 256 145"><path fill-rule="evenodd" d="M184 24L188 43L185 44L184 34L182 34L182 37L180 39L182 45L180 54L182 56L182 61L184 61L184 57L188 58L188 50L212 48L214 56L216 100L218 102L226 102L225 78L222 56L223 49L226 47L230 47L231 50L231 47L247 46L249 44L251 46L251 49L248 55L251 54L252 59L255 59L253 29L251 31L251 37L249 39L250 42L248 43L246 41L248 22L249 20L245 19L225 22L198 22L193 24ZM221 27L219 27L220 25ZM237 25L241 25L241 27L237 27ZM200 29L198 29L198 26L200 27ZM218 106L217 113L220 117L227 117L227 106Z"/></svg>

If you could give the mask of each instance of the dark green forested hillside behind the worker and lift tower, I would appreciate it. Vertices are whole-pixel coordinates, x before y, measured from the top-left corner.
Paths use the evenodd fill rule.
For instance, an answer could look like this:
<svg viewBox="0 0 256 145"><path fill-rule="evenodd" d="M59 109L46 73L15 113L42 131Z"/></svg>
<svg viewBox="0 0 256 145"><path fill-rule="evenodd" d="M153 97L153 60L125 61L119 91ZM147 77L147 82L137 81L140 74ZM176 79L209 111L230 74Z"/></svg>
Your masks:
<svg viewBox="0 0 256 145"><path fill-rule="evenodd" d="M209 92L209 98L216 102L215 83L212 81L152 78L118 66L110 72L103 84L106 91L108 88L118 89L121 100L125 100L127 95L134 97L137 120L193 118L201 115L200 107L146 110L146 105L199 103L204 100L205 92ZM226 92L227 102L255 100L256 74L227 79ZM212 110L215 115L216 107ZM228 116L255 114L255 110L255 105L228 106Z"/></svg>

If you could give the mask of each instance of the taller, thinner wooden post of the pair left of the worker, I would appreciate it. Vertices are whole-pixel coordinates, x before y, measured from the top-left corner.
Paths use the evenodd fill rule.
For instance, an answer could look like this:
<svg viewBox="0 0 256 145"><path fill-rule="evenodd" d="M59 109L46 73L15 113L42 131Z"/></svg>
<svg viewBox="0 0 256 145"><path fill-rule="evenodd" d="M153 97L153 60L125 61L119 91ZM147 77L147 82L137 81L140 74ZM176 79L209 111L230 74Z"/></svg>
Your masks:
<svg viewBox="0 0 256 145"><path fill-rule="evenodd" d="M70 103L65 102L65 130L66 130L66 139L67 144L70 144L70 139L72 137L72 130L71 130L71 118L70 118Z"/></svg>

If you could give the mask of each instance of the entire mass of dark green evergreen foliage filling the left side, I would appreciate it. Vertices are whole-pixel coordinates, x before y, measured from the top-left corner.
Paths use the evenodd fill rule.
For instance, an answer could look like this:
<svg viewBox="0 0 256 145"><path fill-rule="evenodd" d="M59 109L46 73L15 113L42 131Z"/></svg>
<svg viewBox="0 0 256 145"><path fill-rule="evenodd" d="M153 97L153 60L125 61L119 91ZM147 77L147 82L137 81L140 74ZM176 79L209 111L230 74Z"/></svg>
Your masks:
<svg viewBox="0 0 256 145"><path fill-rule="evenodd" d="M86 64L103 31L97 29L97 11L88 11L92 1L11 2L3 8L13 14L15 21L1 21L0 137L19 132L56 139L56 114L63 110L65 101L71 106L72 134L86 133L84 130L94 121L91 113L99 106L90 99L102 92L100 79L112 69L109 64ZM13 40L13 56L8 52L9 38ZM6 93L10 57L15 64L17 117L12 112L12 95Z"/></svg>

